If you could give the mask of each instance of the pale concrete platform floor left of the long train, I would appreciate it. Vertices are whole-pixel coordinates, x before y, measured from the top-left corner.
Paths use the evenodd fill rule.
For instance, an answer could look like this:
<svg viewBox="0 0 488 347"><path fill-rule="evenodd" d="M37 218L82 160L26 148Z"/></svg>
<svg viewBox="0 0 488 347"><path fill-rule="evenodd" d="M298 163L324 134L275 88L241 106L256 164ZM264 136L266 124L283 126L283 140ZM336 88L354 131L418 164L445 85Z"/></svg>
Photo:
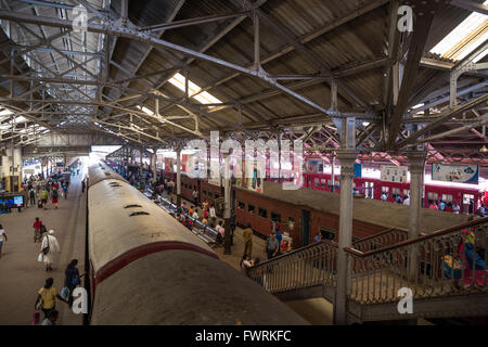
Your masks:
<svg viewBox="0 0 488 347"><path fill-rule="evenodd" d="M82 170L80 170L82 172ZM81 193L81 174L72 177L67 200L60 196L59 208L48 203L48 209L37 206L23 208L22 213L12 209L11 214L0 215L0 223L8 235L0 258L0 325L30 324L38 291L46 279L52 277L54 286L61 291L64 284L64 270L68 262L78 259L78 269L85 269L85 228L86 191ZM34 221L39 217L54 236L61 253L54 258L53 271L46 272L44 265L37 261L40 243L34 243ZM82 314L75 314L69 307L57 301L60 311L57 324L80 325ZM41 312L41 320L43 314Z"/></svg>

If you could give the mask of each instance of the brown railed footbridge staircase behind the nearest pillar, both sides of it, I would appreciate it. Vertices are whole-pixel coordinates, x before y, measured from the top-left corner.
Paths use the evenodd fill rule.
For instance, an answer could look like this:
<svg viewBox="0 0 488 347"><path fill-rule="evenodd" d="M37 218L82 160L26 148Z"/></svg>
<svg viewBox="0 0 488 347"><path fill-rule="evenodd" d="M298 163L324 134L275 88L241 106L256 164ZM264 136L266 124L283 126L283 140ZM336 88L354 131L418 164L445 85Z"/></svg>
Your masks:
<svg viewBox="0 0 488 347"><path fill-rule="evenodd" d="M485 270L444 268L455 256L463 230L475 234L474 246ZM345 248L348 255L348 321L390 321L488 316L488 218L407 240L390 229ZM261 262L251 279L282 300L323 297L334 303L337 244L323 241ZM455 279L458 278L458 280ZM398 312L398 291L412 291L413 313Z"/></svg>

